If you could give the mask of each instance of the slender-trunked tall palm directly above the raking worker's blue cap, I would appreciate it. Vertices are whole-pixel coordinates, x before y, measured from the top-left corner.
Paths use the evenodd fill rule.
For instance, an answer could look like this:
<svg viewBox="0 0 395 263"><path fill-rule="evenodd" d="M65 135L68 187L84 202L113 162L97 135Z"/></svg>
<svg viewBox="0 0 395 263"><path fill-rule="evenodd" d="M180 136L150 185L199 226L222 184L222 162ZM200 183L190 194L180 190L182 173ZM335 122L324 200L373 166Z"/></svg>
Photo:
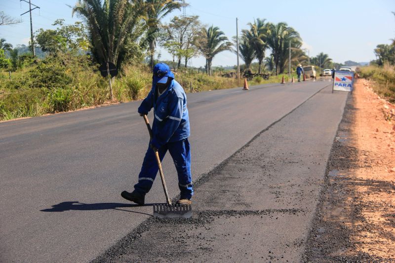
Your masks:
<svg viewBox="0 0 395 263"><path fill-rule="evenodd" d="M148 42L150 53L150 66L154 69L154 54L157 46L160 20L175 9L180 9L180 0L146 0L148 4L147 24L148 30L145 41Z"/></svg>

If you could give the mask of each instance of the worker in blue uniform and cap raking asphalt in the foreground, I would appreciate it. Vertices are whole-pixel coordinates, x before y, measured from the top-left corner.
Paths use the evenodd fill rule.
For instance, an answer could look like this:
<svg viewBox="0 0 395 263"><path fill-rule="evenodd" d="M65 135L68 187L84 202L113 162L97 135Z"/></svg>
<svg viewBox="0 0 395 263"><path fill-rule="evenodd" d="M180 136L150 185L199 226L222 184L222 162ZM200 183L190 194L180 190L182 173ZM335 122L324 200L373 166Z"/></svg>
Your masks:
<svg viewBox="0 0 395 263"><path fill-rule="evenodd" d="M174 80L174 74L169 66L164 63L155 65L152 89L141 103L138 112L143 116L152 108L154 108L153 139L145 154L139 181L132 192L123 191L121 196L134 203L144 204L145 195L150 191L158 173L155 151L158 151L162 161L168 150L178 174L180 199L177 203L190 205L194 190L188 142L190 126L187 96L181 85Z"/></svg>

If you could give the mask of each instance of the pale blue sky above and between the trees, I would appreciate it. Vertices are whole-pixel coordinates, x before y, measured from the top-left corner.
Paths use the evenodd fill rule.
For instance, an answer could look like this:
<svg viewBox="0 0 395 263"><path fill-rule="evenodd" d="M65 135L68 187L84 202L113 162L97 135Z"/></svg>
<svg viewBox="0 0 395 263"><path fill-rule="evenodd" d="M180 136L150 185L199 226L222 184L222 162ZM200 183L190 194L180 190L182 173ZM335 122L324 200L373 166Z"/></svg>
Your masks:
<svg viewBox="0 0 395 263"><path fill-rule="evenodd" d="M29 1L29 0L27 0ZM186 15L198 15L206 26L217 26L232 39L236 36L236 18L239 35L242 29L254 19L266 19L268 22L286 22L299 32L303 48L308 49L311 57L323 52L334 62L347 60L369 62L375 58L373 49L378 44L389 44L395 38L395 0L186 0ZM311 2L312 4L308 4ZM73 24L79 21L72 17L71 8L76 0L32 0L40 9L32 11L33 31L40 28L53 29L51 24L58 18ZM13 44L28 44L30 39L29 4L20 0L0 0L0 11L20 19L17 25L0 26L0 38ZM182 15L176 10L163 19L168 22L173 16ZM171 60L163 49L158 50L161 59ZM267 51L267 55L270 51ZM224 51L214 57L213 66L236 65L234 52ZM242 61L240 61L242 63ZM193 67L204 66L205 59L193 58Z"/></svg>

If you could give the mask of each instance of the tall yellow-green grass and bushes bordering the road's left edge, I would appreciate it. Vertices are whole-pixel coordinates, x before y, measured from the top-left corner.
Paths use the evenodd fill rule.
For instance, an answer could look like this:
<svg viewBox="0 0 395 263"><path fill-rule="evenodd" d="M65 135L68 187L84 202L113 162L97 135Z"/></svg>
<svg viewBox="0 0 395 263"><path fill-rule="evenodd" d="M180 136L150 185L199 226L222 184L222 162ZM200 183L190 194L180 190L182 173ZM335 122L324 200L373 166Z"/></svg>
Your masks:
<svg viewBox="0 0 395 263"><path fill-rule="evenodd" d="M226 89L243 85L243 79L208 76L191 70L176 71L175 79L186 92ZM11 74L0 72L0 120L67 112L109 101L107 78L86 56L47 58ZM278 82L281 76L253 84ZM123 67L113 79L118 102L143 99L152 85L152 73L144 65Z"/></svg>

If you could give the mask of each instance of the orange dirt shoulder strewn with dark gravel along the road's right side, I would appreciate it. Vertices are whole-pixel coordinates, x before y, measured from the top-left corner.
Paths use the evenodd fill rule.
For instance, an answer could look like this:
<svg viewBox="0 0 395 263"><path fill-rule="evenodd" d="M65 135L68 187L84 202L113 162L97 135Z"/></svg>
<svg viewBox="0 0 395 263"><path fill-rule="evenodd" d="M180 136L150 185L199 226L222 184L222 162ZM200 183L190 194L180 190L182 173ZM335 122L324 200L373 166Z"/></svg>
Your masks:
<svg viewBox="0 0 395 263"><path fill-rule="evenodd" d="M395 107L356 81L303 262L395 262Z"/></svg>

